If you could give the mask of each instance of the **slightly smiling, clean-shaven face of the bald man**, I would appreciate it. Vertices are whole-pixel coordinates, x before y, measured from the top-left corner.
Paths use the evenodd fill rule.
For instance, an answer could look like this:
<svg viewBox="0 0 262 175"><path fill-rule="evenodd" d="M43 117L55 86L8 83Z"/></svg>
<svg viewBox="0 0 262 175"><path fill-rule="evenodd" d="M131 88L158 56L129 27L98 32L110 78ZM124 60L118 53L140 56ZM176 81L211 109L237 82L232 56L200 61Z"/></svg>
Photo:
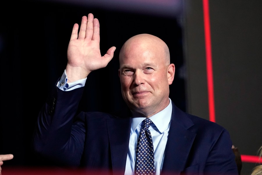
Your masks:
<svg viewBox="0 0 262 175"><path fill-rule="evenodd" d="M131 110L146 117L169 104L169 84L173 79L170 83L170 65L165 56L161 44L141 41L131 41L120 53L118 73L123 98Z"/></svg>

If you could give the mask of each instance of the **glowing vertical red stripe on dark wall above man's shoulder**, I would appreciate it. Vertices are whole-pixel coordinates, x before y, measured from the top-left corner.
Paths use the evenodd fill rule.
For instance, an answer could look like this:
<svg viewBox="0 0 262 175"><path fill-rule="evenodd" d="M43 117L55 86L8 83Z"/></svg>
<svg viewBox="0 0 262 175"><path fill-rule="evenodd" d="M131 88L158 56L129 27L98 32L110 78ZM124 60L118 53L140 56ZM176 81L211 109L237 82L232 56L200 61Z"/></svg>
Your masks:
<svg viewBox="0 0 262 175"><path fill-rule="evenodd" d="M209 120L215 122L214 84L213 84L213 67L212 67L208 0L203 0L203 14L204 14L205 45L206 45L206 71L207 71L207 86L208 86Z"/></svg>

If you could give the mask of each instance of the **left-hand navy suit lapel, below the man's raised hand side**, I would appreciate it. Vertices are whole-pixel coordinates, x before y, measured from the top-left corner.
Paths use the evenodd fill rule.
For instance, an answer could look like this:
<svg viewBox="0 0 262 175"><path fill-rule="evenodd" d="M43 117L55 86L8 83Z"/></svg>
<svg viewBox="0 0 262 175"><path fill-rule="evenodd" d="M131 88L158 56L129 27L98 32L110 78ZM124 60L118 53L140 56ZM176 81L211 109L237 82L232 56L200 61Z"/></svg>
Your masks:
<svg viewBox="0 0 262 175"><path fill-rule="evenodd" d="M131 129L131 118L108 119L108 135L113 174L124 174Z"/></svg>

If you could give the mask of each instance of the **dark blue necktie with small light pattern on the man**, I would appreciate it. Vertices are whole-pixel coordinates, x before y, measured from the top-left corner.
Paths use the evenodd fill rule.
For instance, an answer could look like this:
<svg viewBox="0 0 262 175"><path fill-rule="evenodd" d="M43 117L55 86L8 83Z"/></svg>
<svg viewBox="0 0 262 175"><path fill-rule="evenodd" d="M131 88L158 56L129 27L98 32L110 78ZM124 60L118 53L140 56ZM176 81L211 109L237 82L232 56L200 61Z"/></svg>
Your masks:
<svg viewBox="0 0 262 175"><path fill-rule="evenodd" d="M149 127L152 121L149 118L144 120L144 127L141 129L137 141L137 162L135 174L155 175L154 146Z"/></svg>

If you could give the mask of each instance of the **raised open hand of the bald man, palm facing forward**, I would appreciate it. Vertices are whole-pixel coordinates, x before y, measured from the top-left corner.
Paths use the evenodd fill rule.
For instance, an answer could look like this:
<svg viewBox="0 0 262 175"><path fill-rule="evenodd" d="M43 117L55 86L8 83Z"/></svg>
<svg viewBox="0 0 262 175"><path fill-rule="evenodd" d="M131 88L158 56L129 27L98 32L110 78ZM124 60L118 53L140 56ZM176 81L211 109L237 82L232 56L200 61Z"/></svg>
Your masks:
<svg viewBox="0 0 262 175"><path fill-rule="evenodd" d="M74 24L68 44L68 63L65 68L68 82L86 78L91 71L104 68L114 56L116 47L107 50L104 56L100 53L100 26L92 13L82 17L78 33L78 24Z"/></svg>

